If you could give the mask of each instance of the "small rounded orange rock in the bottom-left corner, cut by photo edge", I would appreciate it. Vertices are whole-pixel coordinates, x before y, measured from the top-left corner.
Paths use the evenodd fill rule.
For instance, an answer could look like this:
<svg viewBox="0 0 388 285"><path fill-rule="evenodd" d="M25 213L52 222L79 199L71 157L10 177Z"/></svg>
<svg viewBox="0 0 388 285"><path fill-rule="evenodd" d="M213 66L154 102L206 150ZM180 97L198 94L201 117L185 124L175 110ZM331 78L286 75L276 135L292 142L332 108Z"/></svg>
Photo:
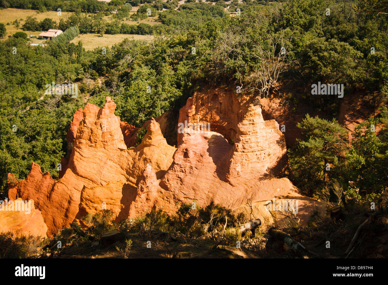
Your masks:
<svg viewBox="0 0 388 285"><path fill-rule="evenodd" d="M35 209L34 201L23 201L21 198L3 203L0 206L0 233L12 231L17 235L35 235L46 237L47 226L43 221L42 213ZM16 204L23 205L22 208L14 207ZM24 207L25 206L25 207ZM7 209L5 209L7 207ZM19 211L16 211L19 210Z"/></svg>

